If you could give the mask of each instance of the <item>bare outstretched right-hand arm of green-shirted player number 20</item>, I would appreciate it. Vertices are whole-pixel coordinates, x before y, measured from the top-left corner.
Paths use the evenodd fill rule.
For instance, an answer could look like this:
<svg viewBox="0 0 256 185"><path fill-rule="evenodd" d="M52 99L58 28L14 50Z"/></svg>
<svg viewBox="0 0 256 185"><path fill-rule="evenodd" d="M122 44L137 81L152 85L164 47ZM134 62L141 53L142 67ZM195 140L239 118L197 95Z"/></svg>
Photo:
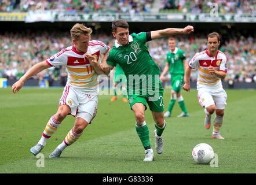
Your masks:
<svg viewBox="0 0 256 185"><path fill-rule="evenodd" d="M178 34L190 34L194 31L192 25L188 25L185 28L166 28L157 31L151 31L151 39L159 39L166 36L178 35Z"/></svg>

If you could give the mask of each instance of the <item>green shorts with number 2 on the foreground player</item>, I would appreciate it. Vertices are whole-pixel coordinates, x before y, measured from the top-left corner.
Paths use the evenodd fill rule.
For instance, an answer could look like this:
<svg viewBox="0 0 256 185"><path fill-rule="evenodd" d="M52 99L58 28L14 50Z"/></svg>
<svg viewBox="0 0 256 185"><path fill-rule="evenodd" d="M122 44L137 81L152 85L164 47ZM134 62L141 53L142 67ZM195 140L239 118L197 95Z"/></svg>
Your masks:
<svg viewBox="0 0 256 185"><path fill-rule="evenodd" d="M143 103L145 105L145 110L147 110L147 103L149 106L149 109L154 112L163 112L164 111L164 105L163 105L163 90L160 90L159 93L155 95L139 95L139 94L133 94L128 95L129 99L129 105L134 105L134 103Z"/></svg>

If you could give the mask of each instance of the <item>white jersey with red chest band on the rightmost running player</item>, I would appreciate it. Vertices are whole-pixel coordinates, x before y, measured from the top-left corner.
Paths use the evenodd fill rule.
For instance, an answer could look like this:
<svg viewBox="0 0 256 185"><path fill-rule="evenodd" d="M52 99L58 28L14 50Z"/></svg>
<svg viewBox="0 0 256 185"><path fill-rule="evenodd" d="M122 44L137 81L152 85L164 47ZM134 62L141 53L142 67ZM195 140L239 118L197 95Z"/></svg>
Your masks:
<svg viewBox="0 0 256 185"><path fill-rule="evenodd" d="M211 56L207 50L204 50L192 58L188 62L190 68L199 68L197 88L222 88L221 79L212 75L208 70L209 66L213 66L215 70L224 71L226 73L226 56L222 51L218 50L216 56Z"/></svg>

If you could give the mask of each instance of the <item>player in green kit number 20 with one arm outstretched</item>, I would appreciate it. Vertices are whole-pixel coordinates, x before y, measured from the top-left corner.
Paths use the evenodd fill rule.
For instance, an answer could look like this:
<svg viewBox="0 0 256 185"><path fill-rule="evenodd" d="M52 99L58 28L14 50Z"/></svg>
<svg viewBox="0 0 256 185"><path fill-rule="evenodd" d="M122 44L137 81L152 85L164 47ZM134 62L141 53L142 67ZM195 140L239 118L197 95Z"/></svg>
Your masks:
<svg viewBox="0 0 256 185"><path fill-rule="evenodd" d="M156 152L163 152L162 133L166 121L163 116L163 88L160 83L160 69L149 54L146 43L153 39L175 34L189 34L192 26L185 28L167 28L158 31L129 34L129 24L124 20L112 22L112 34L115 45L109 52L106 62L101 63L105 72L119 64L127 77L127 95L131 110L136 119L136 132L145 149L144 161L152 161L154 154L149 142L149 129L145 122L147 103L155 121Z"/></svg>

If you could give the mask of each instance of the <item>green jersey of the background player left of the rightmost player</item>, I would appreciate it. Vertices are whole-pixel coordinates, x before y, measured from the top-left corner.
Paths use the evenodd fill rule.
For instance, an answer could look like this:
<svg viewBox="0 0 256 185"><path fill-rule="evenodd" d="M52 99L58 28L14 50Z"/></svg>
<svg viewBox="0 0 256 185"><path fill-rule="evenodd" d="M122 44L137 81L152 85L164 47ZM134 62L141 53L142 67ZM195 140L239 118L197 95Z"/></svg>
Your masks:
<svg viewBox="0 0 256 185"><path fill-rule="evenodd" d="M169 51L167 53L166 62L170 65L170 74L171 75L184 75L184 64L183 61L186 59L185 54L182 50L175 47L174 53Z"/></svg>

